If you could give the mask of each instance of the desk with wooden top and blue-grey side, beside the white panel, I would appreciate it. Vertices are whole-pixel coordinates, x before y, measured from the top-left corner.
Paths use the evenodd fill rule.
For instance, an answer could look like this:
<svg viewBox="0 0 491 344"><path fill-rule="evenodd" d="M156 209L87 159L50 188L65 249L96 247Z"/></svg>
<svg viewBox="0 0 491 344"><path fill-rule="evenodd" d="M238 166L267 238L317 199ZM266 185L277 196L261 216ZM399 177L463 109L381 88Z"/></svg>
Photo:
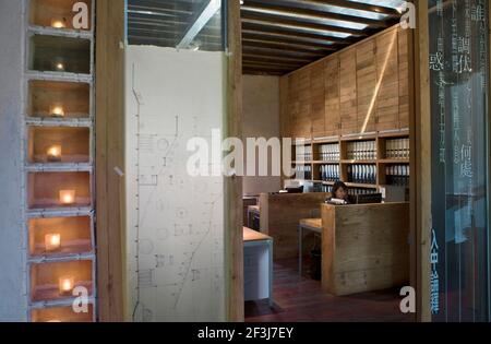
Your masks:
<svg viewBox="0 0 491 344"><path fill-rule="evenodd" d="M267 250L267 275L261 273L264 271L264 251L262 249ZM267 289L267 299L270 303L270 307L273 307L273 238L259 233L256 230L252 230L251 228L243 227L243 249L244 249L244 300L254 300L256 298L255 294L258 290ZM255 251L254 251L255 250ZM249 253L250 251L250 253ZM248 266L248 262L246 257L248 254L258 253L261 257L254 257L253 264L258 262L259 266ZM251 269L248 269L251 268ZM258 271L254 271L254 268L258 268ZM256 283L252 290L248 289L248 283ZM251 296L252 295L252 296Z"/></svg>

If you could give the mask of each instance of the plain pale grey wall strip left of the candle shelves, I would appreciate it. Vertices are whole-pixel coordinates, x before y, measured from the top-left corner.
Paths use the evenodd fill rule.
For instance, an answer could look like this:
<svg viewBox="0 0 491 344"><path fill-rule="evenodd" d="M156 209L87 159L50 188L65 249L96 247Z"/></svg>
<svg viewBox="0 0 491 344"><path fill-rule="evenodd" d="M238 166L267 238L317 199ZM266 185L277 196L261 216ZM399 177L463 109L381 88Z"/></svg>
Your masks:
<svg viewBox="0 0 491 344"><path fill-rule="evenodd" d="M26 321L21 213L22 1L0 0L0 321Z"/></svg>

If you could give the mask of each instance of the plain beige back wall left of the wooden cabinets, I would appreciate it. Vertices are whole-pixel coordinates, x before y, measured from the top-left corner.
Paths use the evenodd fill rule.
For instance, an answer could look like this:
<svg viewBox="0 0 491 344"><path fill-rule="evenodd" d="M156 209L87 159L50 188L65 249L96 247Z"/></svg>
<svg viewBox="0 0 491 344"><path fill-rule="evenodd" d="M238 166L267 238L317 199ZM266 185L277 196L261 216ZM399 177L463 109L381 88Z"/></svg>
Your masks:
<svg viewBox="0 0 491 344"><path fill-rule="evenodd" d="M243 138L279 138L279 78L243 75ZM256 163L258 164L258 163ZM271 167L271 159L270 159ZM277 192L280 177L244 177L243 193Z"/></svg>

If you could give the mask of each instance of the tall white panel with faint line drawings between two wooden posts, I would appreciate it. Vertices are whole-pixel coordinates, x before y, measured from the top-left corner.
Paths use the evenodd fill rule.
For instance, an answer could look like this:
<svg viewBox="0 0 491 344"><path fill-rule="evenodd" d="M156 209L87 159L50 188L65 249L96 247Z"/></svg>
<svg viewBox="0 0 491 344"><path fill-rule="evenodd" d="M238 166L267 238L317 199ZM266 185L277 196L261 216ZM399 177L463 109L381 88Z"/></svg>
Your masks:
<svg viewBox="0 0 491 344"><path fill-rule="evenodd" d="M188 140L209 143L212 129L224 127L224 62L221 52L127 50L127 275L134 321L225 320L224 178L187 171Z"/></svg>

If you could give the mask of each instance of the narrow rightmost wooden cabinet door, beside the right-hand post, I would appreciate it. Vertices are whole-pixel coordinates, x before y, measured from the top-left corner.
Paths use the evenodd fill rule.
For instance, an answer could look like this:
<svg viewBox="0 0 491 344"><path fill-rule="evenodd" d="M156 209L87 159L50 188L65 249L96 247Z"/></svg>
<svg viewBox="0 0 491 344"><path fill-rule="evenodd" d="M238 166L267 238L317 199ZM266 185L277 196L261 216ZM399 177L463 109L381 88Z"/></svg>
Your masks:
<svg viewBox="0 0 491 344"><path fill-rule="evenodd" d="M399 129L409 129L409 29L398 29Z"/></svg>

